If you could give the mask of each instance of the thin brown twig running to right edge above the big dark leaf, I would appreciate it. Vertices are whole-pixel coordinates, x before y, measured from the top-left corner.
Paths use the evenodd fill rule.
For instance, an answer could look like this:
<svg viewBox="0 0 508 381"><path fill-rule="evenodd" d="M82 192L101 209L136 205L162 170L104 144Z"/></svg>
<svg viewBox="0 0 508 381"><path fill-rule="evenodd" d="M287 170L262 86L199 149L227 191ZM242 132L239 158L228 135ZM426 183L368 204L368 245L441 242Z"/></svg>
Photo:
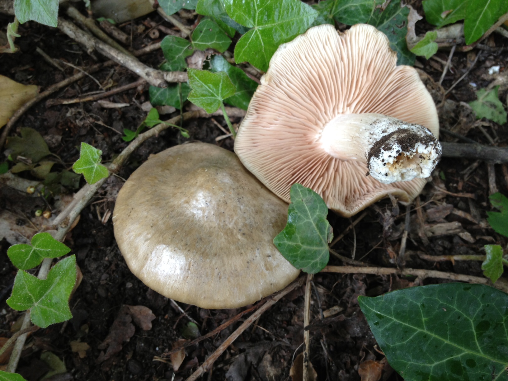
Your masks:
<svg viewBox="0 0 508 381"><path fill-rule="evenodd" d="M488 278L482 278L480 276L455 274L453 272L443 272L436 270L424 270L424 269L397 269L391 267L353 267L353 266L327 266L321 272L335 272L342 274L374 274L374 275L414 275L421 279L425 278L439 278L439 279L451 279L458 280L461 282L469 283L480 283L494 285L495 288L508 292L508 282L499 278L494 284Z"/></svg>

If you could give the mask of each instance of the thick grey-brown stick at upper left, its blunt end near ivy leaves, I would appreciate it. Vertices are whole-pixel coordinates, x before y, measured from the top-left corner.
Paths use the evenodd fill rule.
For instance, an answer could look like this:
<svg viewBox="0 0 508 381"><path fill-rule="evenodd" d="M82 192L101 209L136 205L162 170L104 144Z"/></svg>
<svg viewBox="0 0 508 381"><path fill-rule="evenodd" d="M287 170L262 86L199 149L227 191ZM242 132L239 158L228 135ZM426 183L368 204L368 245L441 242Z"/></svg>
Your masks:
<svg viewBox="0 0 508 381"><path fill-rule="evenodd" d="M88 35L83 30L78 28L72 22L67 21L61 17L58 18L58 29L60 29L67 36L73 40L83 44L88 51L97 50L99 53L106 57L118 62L125 68L133 71L141 78L145 79L148 83L157 87L168 87L168 82L186 82L187 74L183 72L162 72L160 70L152 69L138 59L124 54L105 42Z"/></svg>

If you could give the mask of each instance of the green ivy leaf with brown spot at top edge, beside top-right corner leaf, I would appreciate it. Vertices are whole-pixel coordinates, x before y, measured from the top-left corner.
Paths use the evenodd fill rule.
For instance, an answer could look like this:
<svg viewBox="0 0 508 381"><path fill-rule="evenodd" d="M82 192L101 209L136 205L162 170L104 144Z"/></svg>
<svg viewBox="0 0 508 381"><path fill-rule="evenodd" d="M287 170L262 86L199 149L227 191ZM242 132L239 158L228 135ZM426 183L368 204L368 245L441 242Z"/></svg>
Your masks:
<svg viewBox="0 0 508 381"><path fill-rule="evenodd" d="M464 0L423 0L422 4L425 19L438 28L466 17L467 2Z"/></svg>

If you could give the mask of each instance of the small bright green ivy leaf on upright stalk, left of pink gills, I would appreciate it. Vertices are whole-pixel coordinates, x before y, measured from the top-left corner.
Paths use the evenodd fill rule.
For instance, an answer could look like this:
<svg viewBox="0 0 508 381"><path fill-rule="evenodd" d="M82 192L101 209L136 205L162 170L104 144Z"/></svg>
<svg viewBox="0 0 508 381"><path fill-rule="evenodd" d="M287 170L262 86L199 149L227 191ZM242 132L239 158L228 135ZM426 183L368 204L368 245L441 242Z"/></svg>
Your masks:
<svg viewBox="0 0 508 381"><path fill-rule="evenodd" d="M188 100L208 113L217 111L224 99L235 94L236 87L224 72L188 69L187 73L192 87Z"/></svg>

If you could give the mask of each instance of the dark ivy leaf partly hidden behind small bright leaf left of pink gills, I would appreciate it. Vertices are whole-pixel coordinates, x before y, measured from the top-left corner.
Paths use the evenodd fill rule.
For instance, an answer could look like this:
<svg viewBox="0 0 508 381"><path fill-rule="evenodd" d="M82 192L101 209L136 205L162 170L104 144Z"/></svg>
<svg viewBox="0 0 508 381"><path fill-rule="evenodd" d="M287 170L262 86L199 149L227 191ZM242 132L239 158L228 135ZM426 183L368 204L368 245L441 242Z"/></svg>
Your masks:
<svg viewBox="0 0 508 381"><path fill-rule="evenodd" d="M225 72L236 87L235 94L232 97L226 98L224 102L247 110L252 94L258 87L256 81L250 79L240 68L231 65L221 55L214 55L210 60L210 71L213 73Z"/></svg>

